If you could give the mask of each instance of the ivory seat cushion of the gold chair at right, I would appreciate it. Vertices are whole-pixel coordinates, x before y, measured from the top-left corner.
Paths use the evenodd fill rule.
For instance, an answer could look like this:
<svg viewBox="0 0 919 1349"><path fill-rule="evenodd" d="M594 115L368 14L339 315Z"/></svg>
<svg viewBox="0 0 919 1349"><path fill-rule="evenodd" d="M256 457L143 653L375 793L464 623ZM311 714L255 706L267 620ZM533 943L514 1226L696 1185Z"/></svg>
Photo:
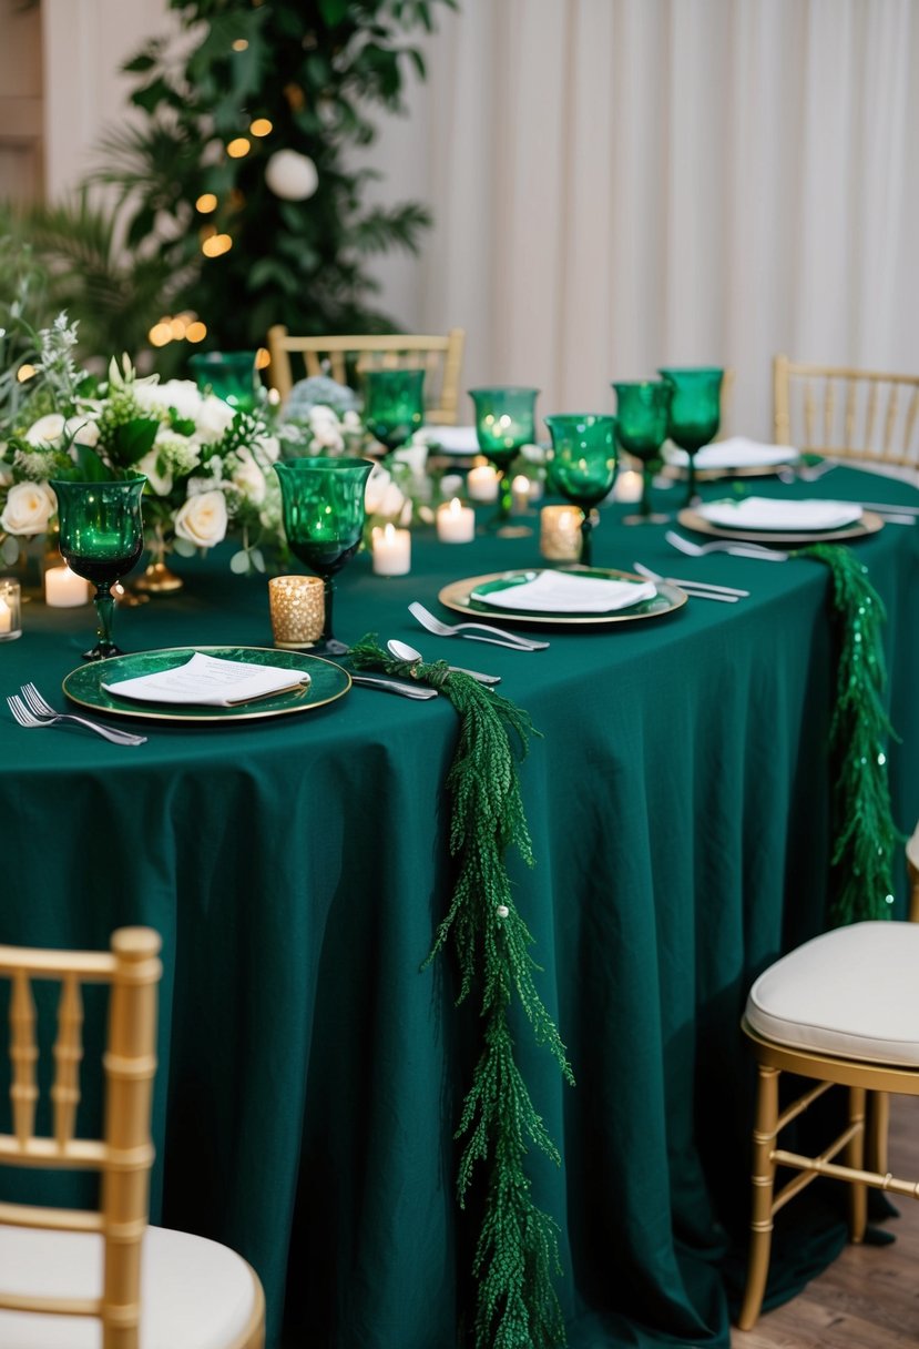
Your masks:
<svg viewBox="0 0 919 1349"><path fill-rule="evenodd" d="M919 924L834 928L765 970L747 1000L764 1039L919 1067Z"/></svg>

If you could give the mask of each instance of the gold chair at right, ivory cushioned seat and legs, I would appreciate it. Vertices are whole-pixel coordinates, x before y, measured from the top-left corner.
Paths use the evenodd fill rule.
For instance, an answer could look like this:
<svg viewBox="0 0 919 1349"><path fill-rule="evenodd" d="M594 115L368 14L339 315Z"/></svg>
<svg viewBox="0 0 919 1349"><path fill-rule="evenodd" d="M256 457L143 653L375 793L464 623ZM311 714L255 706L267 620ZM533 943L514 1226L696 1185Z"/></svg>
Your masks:
<svg viewBox="0 0 919 1349"><path fill-rule="evenodd" d="M818 1175L848 1180L849 1232L861 1241L866 1187L919 1198L916 1180L864 1170L866 1091L919 1095L919 925L854 923L776 960L751 989L742 1028L757 1060L752 1221L738 1325L749 1330L765 1291L776 1211ZM779 1110L783 1071L815 1082ZM849 1121L818 1156L779 1147L779 1133L833 1085L849 1090ZM868 1140L869 1156L885 1151ZM833 1159L839 1153L844 1161ZM795 1172L775 1191L776 1167Z"/></svg>

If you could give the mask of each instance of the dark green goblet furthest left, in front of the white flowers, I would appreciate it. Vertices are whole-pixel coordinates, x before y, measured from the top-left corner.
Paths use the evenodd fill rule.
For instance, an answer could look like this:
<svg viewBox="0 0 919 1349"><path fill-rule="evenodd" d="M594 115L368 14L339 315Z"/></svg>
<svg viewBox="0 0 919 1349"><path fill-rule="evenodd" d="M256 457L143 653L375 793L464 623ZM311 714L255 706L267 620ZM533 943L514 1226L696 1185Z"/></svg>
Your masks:
<svg viewBox="0 0 919 1349"><path fill-rule="evenodd" d="M51 483L58 498L61 556L71 572L96 587L96 646L85 653L88 661L123 654L112 639L112 585L140 561L146 482L137 476L110 483Z"/></svg>

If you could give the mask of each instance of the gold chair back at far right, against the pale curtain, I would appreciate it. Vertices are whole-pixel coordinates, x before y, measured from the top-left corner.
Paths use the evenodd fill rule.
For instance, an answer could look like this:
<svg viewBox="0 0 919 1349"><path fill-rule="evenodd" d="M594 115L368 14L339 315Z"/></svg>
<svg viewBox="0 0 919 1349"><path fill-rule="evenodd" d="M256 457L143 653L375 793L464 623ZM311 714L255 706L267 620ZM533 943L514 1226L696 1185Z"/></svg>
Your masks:
<svg viewBox="0 0 919 1349"><path fill-rule="evenodd" d="M881 375L776 356L775 438L870 467L919 469L919 375Z"/></svg>

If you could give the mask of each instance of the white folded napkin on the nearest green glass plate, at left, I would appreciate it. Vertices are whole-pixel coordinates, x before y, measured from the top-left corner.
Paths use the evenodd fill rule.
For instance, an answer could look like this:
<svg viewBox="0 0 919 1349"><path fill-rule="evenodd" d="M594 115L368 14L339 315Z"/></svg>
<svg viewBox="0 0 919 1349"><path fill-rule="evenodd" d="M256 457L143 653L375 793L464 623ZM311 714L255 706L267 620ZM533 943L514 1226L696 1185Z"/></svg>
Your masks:
<svg viewBox="0 0 919 1349"><path fill-rule="evenodd" d="M280 665L253 665L249 661L224 661L217 656L195 652L183 665L156 674L139 674L116 684L102 684L117 697L135 697L144 703L185 703L194 707L234 707L270 693L309 684L306 670L288 670Z"/></svg>

